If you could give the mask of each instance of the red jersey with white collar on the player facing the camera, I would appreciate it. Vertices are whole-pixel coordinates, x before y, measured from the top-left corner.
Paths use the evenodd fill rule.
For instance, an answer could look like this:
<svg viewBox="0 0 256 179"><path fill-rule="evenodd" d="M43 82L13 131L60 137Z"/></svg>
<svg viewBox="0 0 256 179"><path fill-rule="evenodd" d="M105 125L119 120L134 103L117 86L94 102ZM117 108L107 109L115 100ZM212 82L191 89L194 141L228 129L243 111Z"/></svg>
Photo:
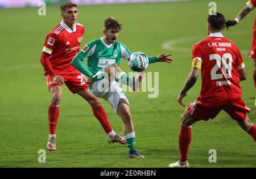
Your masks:
<svg viewBox="0 0 256 179"><path fill-rule="evenodd" d="M51 54L49 62L55 74L72 74L77 71L71 61L80 51L83 34L83 25L75 23L72 31L63 21L48 33L43 52ZM44 75L47 75L46 71Z"/></svg>

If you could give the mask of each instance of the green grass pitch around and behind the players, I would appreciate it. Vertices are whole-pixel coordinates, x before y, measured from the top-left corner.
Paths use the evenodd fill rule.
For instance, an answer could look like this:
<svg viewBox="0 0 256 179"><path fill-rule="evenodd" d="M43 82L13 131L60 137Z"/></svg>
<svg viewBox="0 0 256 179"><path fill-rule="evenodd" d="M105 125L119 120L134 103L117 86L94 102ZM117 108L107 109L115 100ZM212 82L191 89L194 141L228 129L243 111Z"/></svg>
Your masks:
<svg viewBox="0 0 256 179"><path fill-rule="evenodd" d="M0 167L168 167L179 158L179 116L185 108L176 98L191 69L191 47L207 36L210 1L139 3L127 5L80 6L78 22L85 25L82 45L102 35L102 22L109 16L123 23L119 33L132 52L148 56L173 54L174 62L155 63L147 71L159 72L159 96L148 99L147 92L127 92L136 132L137 150L144 160L126 158L127 147L108 144L90 106L78 95L63 88L57 125L57 151L46 151L46 163L38 162L38 150L46 150L48 138L47 90L40 54L47 33L61 21L59 5L47 6L46 16L38 8L1 9L0 29ZM245 1L217 2L217 11L233 19ZM238 45L246 64L247 80L241 82L243 99L253 111L256 123L252 79L253 61L247 58L255 12L224 35ZM171 41L171 42L170 42ZM163 48L163 44L166 48ZM171 48L170 48L171 43ZM168 49L169 46L169 49ZM121 68L129 72L125 61ZM199 95L196 83L184 103ZM116 132L122 132L121 119L101 100ZM217 163L209 163L210 149L217 151ZM228 114L192 127L189 150L191 167L255 167L255 142Z"/></svg>

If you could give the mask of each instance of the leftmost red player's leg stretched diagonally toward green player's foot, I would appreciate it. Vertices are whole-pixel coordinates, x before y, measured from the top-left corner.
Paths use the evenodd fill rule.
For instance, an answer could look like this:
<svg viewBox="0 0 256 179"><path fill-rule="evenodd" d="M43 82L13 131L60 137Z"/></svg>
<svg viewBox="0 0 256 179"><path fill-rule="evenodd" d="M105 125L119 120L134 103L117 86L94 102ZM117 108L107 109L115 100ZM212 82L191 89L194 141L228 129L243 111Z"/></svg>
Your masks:
<svg viewBox="0 0 256 179"><path fill-rule="evenodd" d="M83 97L88 103L92 106L92 111L94 116L100 121L101 126L105 130L107 134L107 141L109 143L118 142L121 144L125 144L126 140L120 134L115 133L112 126L109 122L109 117L105 112L105 109L100 103L100 100L96 96L93 95L90 90L80 90L76 89L76 93Z"/></svg>

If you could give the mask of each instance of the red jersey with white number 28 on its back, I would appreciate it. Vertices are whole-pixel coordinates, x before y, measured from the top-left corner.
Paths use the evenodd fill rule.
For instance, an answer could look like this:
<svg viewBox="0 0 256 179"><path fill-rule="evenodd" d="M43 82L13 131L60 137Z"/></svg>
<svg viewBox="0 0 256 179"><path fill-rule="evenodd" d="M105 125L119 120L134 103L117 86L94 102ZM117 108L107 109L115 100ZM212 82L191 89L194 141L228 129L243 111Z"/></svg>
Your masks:
<svg viewBox="0 0 256 179"><path fill-rule="evenodd" d="M238 69L243 69L245 65L234 42L221 33L212 33L193 45L193 58L202 63L200 101L218 106L241 99Z"/></svg>

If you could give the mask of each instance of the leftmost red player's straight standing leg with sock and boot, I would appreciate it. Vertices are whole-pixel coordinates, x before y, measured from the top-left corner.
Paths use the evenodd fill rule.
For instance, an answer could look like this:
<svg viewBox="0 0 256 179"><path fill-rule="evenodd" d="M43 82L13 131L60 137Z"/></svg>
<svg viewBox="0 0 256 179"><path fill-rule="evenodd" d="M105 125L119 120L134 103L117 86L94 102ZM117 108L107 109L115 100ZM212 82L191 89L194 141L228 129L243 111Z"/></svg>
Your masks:
<svg viewBox="0 0 256 179"><path fill-rule="evenodd" d="M57 119L59 117L59 104L61 100L62 90L61 86L53 86L49 88L51 92L51 103L48 108L48 119L49 119L49 138L47 141L47 149L49 151L56 150L56 126Z"/></svg>

